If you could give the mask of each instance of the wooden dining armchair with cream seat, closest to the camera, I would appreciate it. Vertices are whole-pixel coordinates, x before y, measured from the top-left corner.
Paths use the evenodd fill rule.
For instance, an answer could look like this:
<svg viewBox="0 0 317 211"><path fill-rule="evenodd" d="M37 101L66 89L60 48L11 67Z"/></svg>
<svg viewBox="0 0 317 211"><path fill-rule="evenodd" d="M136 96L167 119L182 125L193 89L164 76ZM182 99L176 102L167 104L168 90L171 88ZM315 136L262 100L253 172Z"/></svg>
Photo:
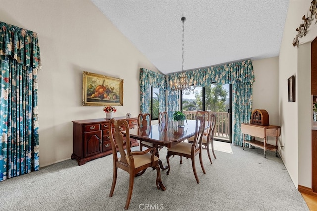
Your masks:
<svg viewBox="0 0 317 211"><path fill-rule="evenodd" d="M113 155L113 180L112 186L110 190L109 197L112 197L116 180L118 174L118 168L126 171L130 175L129 179L129 189L128 189L128 196L125 203L124 209L128 209L132 190L133 190L133 183L135 175L147 169L148 167L155 168L157 170L157 177L156 177L156 186L158 189L166 190L165 186L162 184L161 175L160 175L160 168L159 168L159 158L155 156L156 149L149 148L145 151L131 151L130 145L130 132L129 132L129 124L126 120L114 120L111 119L110 122L110 141L112 146L112 155ZM120 131L120 126L125 126L126 128L126 140ZM115 141L114 141L115 140ZM126 146L126 151L124 150L124 146ZM117 155L117 148L120 153L120 158Z"/></svg>

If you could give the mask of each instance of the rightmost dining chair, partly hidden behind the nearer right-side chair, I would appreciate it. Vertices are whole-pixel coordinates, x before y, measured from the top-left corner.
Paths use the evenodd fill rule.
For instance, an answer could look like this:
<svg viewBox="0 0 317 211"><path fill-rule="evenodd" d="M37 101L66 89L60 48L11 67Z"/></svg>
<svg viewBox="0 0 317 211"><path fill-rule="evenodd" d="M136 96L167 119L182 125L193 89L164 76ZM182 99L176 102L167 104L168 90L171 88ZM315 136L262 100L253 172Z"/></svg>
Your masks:
<svg viewBox="0 0 317 211"><path fill-rule="evenodd" d="M207 112L207 111L204 111L204 112ZM214 149L213 149L213 138L214 138L215 125L217 122L217 118L216 118L217 116L215 113L210 113L210 112L207 112L207 113L208 113L207 122L208 122L209 128L207 129L207 132L206 131L204 132L203 141L202 141L202 146L203 146L202 149L207 150L209 161L212 164L209 145L211 144L211 150L212 150L213 157L215 159L217 159L216 154L214 153ZM193 137L189 138L187 141L193 142Z"/></svg>

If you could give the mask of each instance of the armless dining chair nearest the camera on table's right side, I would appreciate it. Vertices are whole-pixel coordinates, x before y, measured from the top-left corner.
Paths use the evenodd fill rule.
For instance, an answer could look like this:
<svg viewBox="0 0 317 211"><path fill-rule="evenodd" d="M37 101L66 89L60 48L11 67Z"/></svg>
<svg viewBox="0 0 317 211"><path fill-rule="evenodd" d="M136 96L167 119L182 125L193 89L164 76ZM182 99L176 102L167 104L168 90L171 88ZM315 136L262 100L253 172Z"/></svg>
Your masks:
<svg viewBox="0 0 317 211"><path fill-rule="evenodd" d="M205 129L205 115L197 116L195 136L194 136L193 142L192 143L181 142L167 149L167 155L166 155L166 160L168 164L167 175L169 174L169 171L170 171L169 157L171 157L172 155L178 155L181 157L190 158L192 160L192 167L193 167L194 175L196 178L196 182L199 183L199 179L198 179L198 176L196 173L196 167L195 167L195 156L199 154L200 165L202 167L203 173L206 174L206 171L203 166L202 154L201 154L204 129ZM180 161L180 163L182 163L182 160Z"/></svg>

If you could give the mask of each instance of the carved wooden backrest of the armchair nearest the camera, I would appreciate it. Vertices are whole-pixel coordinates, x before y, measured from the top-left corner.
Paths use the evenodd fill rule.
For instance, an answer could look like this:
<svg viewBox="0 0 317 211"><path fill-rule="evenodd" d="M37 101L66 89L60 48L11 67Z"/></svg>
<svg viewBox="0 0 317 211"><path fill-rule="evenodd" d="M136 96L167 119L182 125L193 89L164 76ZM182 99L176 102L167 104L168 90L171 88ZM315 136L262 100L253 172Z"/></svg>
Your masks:
<svg viewBox="0 0 317 211"><path fill-rule="evenodd" d="M130 152L131 152L130 131L129 131L128 122L124 119L122 120L111 119L109 122L109 125L110 125L109 134L110 134L110 141L112 146L113 161L114 162L118 161L118 156L117 156L117 148L118 148L121 155L120 162L123 162L125 164L131 163L131 160L128 162L126 158L127 157L126 155L130 155ZM125 141L123 139L123 134L121 133L121 130L120 130L120 128L124 126L126 128ZM125 153L124 144L126 144L127 153Z"/></svg>

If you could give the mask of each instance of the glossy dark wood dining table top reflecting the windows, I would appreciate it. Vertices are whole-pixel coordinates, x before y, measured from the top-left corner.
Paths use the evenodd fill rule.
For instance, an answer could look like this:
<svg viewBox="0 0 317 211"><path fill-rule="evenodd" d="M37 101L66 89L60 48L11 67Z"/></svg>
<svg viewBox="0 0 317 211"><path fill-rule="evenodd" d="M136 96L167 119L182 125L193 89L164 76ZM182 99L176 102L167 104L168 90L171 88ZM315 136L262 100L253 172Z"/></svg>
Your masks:
<svg viewBox="0 0 317 211"><path fill-rule="evenodd" d="M176 121L170 121L167 124L154 124L150 128L133 128L129 131L131 138L147 141L155 145L171 147L194 136L195 125L196 120L187 120L187 124L185 121L184 127L177 127ZM208 128L207 123L205 127Z"/></svg>

